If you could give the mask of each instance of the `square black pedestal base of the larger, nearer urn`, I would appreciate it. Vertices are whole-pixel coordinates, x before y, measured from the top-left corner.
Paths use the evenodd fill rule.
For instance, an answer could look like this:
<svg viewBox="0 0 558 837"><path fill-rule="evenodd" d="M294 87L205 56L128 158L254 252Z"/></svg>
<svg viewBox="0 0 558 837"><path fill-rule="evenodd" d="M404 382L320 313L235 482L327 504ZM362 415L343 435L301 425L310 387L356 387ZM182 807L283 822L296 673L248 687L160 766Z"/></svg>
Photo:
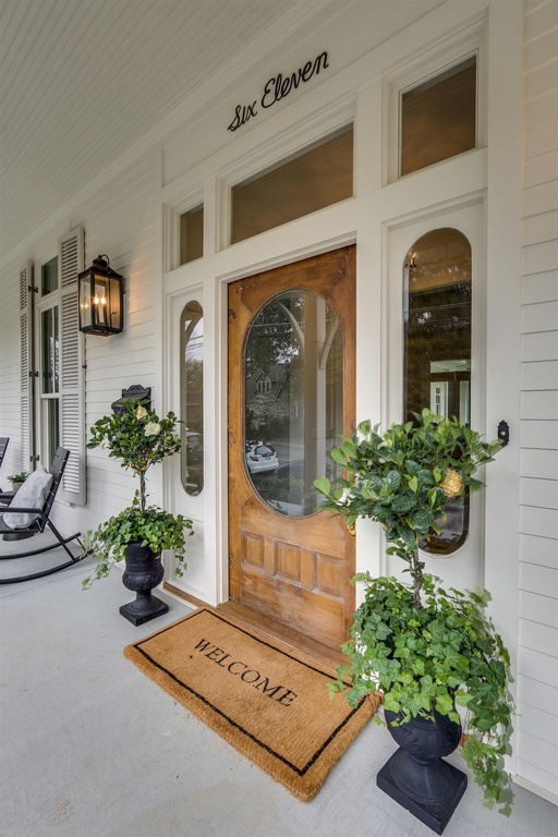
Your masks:
<svg viewBox="0 0 558 837"><path fill-rule="evenodd" d="M414 768L416 767L418 767L418 765L415 764ZM424 769L424 766L421 765L421 768ZM442 794L442 801L427 803L417 799L412 799L398 786L393 778L393 774L399 777L400 775L405 774L411 776L412 773L412 760L410 759L409 753L400 748L379 771L376 777L378 788L413 814L413 816L427 825L428 828L432 828L433 832L441 834L449 823L453 811L458 806L461 797L465 792L466 776L457 767L453 767L452 764L438 760L436 763L436 781L438 783L440 780L441 773L442 785L445 786L446 792ZM424 778L424 774L422 774L422 779ZM420 780L418 777L417 780ZM428 784L429 783L426 781L426 787L424 787L425 797L427 796ZM418 793L416 796L420 797Z"/></svg>

